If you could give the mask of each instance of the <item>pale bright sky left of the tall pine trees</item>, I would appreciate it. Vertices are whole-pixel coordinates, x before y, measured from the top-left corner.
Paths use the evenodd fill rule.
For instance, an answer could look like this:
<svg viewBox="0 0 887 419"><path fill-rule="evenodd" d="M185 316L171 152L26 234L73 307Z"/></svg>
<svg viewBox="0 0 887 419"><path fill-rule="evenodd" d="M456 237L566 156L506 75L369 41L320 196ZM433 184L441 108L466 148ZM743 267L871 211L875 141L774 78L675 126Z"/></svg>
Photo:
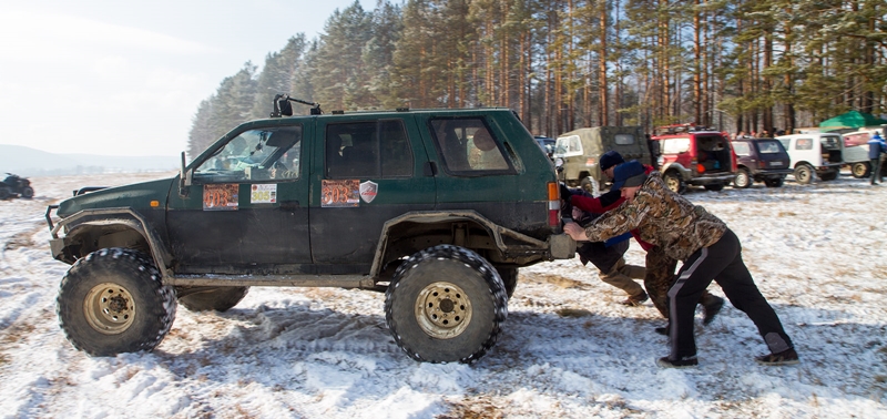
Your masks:
<svg viewBox="0 0 887 419"><path fill-rule="evenodd" d="M354 1L4 0L0 144L177 155L224 78L247 61L261 69L297 33L317 38Z"/></svg>

